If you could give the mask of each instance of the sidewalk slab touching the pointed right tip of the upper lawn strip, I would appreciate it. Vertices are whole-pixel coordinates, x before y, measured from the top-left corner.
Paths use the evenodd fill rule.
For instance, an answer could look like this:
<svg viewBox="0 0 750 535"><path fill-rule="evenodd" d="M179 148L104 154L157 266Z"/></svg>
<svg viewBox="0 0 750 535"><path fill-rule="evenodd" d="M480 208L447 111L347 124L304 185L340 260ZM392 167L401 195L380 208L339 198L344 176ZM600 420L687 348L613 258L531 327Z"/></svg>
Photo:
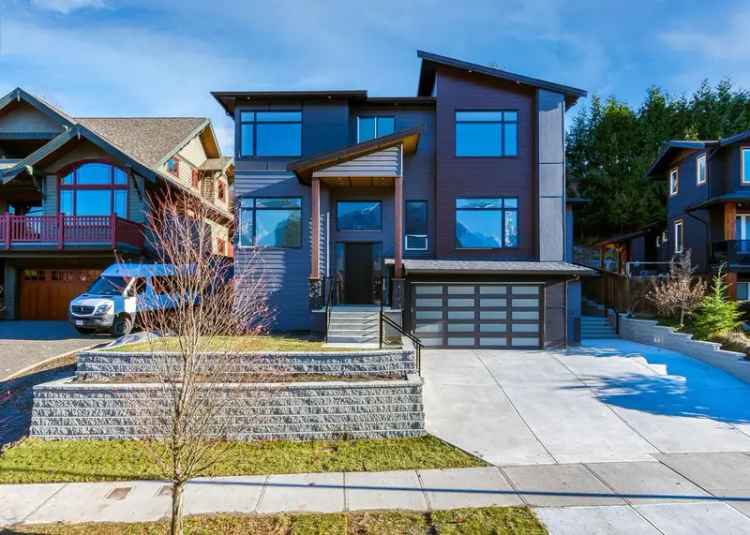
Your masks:
<svg viewBox="0 0 750 535"><path fill-rule="evenodd" d="M523 504L495 467L419 470L418 473L431 509Z"/></svg>

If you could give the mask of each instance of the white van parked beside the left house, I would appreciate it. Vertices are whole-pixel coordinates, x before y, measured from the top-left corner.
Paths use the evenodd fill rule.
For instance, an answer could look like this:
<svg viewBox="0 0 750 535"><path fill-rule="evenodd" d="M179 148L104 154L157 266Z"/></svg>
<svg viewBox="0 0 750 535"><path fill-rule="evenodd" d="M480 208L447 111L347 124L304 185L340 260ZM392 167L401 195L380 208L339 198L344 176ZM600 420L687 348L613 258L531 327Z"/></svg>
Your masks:
<svg viewBox="0 0 750 535"><path fill-rule="evenodd" d="M170 264L114 264L102 272L84 293L70 302L70 322L81 334L109 331L129 334L139 312L171 308Z"/></svg>

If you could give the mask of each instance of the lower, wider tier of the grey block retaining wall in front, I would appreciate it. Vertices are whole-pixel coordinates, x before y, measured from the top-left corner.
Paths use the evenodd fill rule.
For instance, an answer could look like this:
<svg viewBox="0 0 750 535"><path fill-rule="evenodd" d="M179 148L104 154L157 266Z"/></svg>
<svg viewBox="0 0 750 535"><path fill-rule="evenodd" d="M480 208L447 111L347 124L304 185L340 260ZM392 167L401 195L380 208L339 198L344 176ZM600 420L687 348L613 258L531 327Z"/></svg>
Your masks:
<svg viewBox="0 0 750 535"><path fill-rule="evenodd" d="M422 380L216 384L238 440L389 438L424 434ZM44 439L138 438L133 399L158 402L153 384L89 384L70 379L34 387L31 436ZM162 403L167 398L161 398Z"/></svg>

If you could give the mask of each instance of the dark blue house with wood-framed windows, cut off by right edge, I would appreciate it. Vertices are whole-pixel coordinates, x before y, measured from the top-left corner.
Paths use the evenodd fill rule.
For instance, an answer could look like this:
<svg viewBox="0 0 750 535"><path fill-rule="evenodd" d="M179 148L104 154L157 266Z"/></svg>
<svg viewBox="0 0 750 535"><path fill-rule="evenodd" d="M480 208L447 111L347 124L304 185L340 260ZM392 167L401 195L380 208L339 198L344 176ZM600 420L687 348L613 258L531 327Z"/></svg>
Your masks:
<svg viewBox="0 0 750 535"><path fill-rule="evenodd" d="M750 297L750 131L715 141L669 141L647 175L667 183L666 232L656 258L690 250L701 273L725 265L731 295Z"/></svg>

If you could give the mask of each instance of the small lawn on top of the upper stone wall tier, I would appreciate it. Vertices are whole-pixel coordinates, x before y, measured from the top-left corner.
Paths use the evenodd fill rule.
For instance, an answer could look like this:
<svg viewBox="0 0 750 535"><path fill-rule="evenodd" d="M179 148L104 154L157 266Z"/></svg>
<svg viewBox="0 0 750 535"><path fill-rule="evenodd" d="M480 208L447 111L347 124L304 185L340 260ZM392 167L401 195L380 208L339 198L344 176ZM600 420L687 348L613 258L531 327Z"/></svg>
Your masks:
<svg viewBox="0 0 750 535"><path fill-rule="evenodd" d="M306 333L260 336L220 336L206 342L205 351L351 351L352 348L323 347L323 341ZM159 338L114 347L108 351L175 351L175 338Z"/></svg>

